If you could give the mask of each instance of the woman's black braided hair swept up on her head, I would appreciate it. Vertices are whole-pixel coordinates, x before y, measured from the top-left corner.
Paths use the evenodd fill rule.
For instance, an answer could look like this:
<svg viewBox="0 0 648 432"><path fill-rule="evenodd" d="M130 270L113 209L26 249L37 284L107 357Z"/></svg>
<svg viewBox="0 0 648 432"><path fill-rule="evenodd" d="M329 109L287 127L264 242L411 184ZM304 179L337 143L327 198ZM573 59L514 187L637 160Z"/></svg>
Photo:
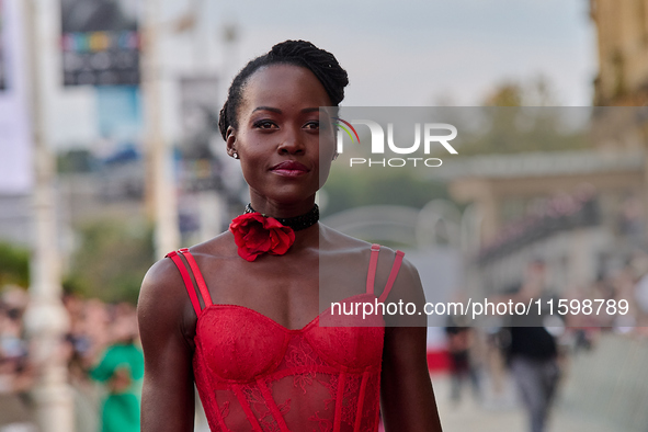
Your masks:
<svg viewBox="0 0 648 432"><path fill-rule="evenodd" d="M223 139L227 140L229 126L238 127L237 113L248 79L259 68L269 65L304 67L321 82L333 106L338 106L344 99L344 87L349 84L349 77L331 53L318 48L310 42L285 41L273 46L268 54L250 60L231 81L227 101L223 105L218 118L218 128Z"/></svg>

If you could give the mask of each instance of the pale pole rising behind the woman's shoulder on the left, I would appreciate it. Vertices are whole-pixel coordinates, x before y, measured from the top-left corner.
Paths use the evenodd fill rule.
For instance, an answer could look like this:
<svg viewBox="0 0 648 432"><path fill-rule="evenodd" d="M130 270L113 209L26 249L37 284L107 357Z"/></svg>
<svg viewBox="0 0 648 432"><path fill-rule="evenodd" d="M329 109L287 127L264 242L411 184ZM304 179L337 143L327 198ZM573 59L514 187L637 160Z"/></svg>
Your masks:
<svg viewBox="0 0 648 432"><path fill-rule="evenodd" d="M172 179L172 156L162 135L161 67L158 53L159 0L146 0L141 46L141 86L144 91L146 138L146 205L155 223L156 258L178 249L178 204Z"/></svg>

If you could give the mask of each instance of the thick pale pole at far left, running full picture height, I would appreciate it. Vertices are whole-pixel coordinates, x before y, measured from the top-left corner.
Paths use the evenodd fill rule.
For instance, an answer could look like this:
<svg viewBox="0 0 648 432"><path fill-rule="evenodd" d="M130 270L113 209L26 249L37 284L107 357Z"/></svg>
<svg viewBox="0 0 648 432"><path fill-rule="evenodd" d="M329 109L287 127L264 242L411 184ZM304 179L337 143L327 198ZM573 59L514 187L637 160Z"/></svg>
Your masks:
<svg viewBox="0 0 648 432"><path fill-rule="evenodd" d="M26 0L22 12L29 44L35 175L31 300L25 315L25 328L32 342L31 361L37 371L33 396L41 432L70 432L75 430L73 401L67 383L66 360L60 355L60 344L69 328L69 317L60 300L55 163L45 136L44 84L39 75L44 55L39 0Z"/></svg>

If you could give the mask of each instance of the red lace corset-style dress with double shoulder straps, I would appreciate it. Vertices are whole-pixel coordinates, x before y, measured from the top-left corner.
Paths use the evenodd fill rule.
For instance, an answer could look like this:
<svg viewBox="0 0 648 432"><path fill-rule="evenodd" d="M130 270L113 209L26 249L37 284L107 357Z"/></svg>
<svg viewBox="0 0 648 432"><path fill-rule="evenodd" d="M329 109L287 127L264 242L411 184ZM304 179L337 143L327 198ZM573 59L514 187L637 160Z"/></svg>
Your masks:
<svg viewBox="0 0 648 432"><path fill-rule="evenodd" d="M378 251L379 246L372 246L366 293L344 302L375 302ZM397 252L379 302L389 294L402 255ZM377 430L382 316L367 317L372 327L366 320L365 327L320 327L320 318L331 316L327 309L304 328L291 330L243 306L214 305L189 250L168 257L180 270L197 314L193 370L213 431ZM349 317L333 322L344 319Z"/></svg>

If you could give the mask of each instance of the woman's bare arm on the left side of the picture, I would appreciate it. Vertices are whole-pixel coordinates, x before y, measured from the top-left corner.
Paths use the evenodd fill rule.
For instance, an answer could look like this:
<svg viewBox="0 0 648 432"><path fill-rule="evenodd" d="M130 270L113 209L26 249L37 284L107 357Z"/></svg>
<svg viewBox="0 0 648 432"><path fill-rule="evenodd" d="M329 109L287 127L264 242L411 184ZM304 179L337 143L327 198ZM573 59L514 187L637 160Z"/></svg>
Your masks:
<svg viewBox="0 0 648 432"><path fill-rule="evenodd" d="M145 276L137 305L145 362L144 432L193 431L193 346L184 331L187 305L189 297L173 263L162 260L155 264Z"/></svg>

